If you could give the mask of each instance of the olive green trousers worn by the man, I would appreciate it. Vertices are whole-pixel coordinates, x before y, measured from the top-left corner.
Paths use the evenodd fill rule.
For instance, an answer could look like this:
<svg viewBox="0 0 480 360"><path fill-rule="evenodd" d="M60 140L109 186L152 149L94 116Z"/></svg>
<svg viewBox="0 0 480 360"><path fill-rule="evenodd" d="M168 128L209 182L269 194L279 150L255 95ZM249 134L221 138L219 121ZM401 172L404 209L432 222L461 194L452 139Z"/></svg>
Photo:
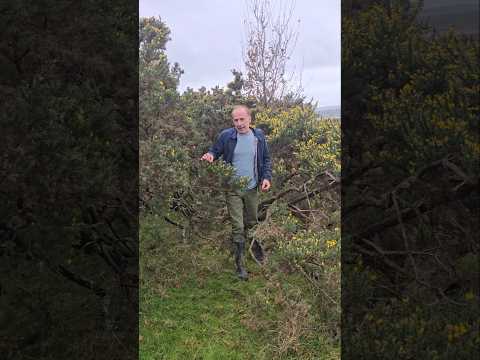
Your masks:
<svg viewBox="0 0 480 360"><path fill-rule="evenodd" d="M232 224L232 240L243 243L250 238L249 231L258 223L258 187L228 191L226 199Z"/></svg>

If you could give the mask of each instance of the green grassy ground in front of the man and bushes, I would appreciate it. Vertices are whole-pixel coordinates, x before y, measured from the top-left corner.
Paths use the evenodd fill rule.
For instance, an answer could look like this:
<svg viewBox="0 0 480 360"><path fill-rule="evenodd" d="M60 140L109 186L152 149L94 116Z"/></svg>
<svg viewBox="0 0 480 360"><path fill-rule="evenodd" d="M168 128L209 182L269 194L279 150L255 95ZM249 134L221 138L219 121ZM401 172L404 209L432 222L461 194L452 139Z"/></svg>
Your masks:
<svg viewBox="0 0 480 360"><path fill-rule="evenodd" d="M143 220L140 234L140 359L339 358L315 333L278 356L276 326L285 312L272 301L278 294L265 273L248 261L250 279L240 281L215 242L182 244L157 219ZM304 285L297 274L274 278L286 291Z"/></svg>

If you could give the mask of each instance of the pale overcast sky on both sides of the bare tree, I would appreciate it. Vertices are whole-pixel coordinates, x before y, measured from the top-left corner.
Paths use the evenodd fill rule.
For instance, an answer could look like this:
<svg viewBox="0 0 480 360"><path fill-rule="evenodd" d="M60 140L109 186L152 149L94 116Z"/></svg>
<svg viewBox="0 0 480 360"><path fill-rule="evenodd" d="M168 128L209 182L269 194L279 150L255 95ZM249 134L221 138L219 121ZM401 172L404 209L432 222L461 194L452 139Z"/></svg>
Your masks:
<svg viewBox="0 0 480 360"><path fill-rule="evenodd" d="M245 11L245 0L140 0L141 17L160 17L171 30L167 56L185 71L181 91L224 87L231 69L244 70ZM340 105L340 0L297 0L294 19L291 67L301 72L304 95L319 106Z"/></svg>

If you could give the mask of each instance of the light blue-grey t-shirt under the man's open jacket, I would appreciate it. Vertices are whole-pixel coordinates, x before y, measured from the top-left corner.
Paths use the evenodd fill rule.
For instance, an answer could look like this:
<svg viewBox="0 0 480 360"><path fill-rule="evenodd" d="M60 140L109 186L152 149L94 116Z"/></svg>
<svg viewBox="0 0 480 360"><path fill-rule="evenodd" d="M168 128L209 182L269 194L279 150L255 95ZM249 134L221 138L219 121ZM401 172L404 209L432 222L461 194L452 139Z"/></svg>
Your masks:
<svg viewBox="0 0 480 360"><path fill-rule="evenodd" d="M257 138L253 135L253 132L250 131L248 134L237 133L237 145L233 152L232 163L238 177L249 177L248 189L253 189L257 185L256 152Z"/></svg>

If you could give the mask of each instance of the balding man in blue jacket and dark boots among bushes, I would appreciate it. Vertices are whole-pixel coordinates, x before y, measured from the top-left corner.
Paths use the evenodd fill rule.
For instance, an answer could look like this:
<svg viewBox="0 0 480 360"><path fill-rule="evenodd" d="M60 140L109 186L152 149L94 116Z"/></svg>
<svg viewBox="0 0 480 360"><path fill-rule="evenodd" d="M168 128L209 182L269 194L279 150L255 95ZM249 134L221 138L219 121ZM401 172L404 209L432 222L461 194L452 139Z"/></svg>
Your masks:
<svg viewBox="0 0 480 360"><path fill-rule="evenodd" d="M236 176L246 176L249 179L246 190L235 189L226 194L237 274L240 279L247 280L245 242L251 240L249 230L258 221L258 188L262 191L270 189L272 164L265 134L260 129L250 127L250 109L245 105L235 106L232 120L233 127L220 133L215 144L201 160L213 162L222 156L226 163L233 165Z"/></svg>

